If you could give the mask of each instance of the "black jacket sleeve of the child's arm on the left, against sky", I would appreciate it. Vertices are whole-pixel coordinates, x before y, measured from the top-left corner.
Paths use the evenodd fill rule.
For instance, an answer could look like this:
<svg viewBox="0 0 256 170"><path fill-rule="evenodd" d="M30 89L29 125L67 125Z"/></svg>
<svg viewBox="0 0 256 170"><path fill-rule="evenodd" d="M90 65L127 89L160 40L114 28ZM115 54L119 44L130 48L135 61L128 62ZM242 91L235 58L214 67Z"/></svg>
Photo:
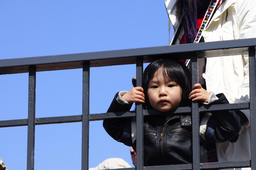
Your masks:
<svg viewBox="0 0 256 170"><path fill-rule="evenodd" d="M117 98L118 93L116 93L110 107L107 112L123 112L129 111L132 104L122 104L119 103ZM122 142L125 145L132 146L131 137L131 121L132 118L109 118L103 121L103 127L106 132L116 141Z"/></svg>

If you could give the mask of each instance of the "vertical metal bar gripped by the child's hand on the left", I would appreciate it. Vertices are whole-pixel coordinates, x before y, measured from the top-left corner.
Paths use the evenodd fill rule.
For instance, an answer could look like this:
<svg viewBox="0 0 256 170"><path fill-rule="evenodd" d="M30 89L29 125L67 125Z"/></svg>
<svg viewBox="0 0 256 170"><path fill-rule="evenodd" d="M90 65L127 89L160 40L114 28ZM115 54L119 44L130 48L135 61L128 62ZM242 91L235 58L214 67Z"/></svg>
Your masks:
<svg viewBox="0 0 256 170"><path fill-rule="evenodd" d="M136 58L136 77L137 82L136 85L142 85L142 74L143 74L143 58ZM136 154L137 154L137 165L136 169L143 169L143 112L142 112L142 104L136 103Z"/></svg>

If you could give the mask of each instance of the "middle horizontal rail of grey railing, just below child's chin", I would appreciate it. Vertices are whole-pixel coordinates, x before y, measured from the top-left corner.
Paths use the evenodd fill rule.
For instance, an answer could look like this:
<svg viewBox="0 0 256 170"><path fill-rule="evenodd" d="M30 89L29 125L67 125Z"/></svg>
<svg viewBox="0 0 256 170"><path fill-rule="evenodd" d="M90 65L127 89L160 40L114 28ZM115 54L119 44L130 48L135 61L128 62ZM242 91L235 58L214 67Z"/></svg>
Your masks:
<svg viewBox="0 0 256 170"><path fill-rule="evenodd" d="M222 104L222 105L212 105L212 106L201 106L199 107L200 112L211 112L217 110L245 110L249 109L250 103L232 103L232 104ZM191 113L191 107L179 107L169 112L169 114L187 114ZM143 115L165 115L166 113L159 112L156 110L143 110ZM108 118L122 118L122 117L135 117L135 111L129 112L115 112L115 113L100 113L100 114L90 114L90 121L104 120ZM57 124L57 123L72 123L72 122L82 122L82 115L73 116L57 116L57 117L42 117L36 118L35 124ZM5 120L0 121L0 128L13 127L13 126L27 126L28 119L16 119L16 120Z"/></svg>

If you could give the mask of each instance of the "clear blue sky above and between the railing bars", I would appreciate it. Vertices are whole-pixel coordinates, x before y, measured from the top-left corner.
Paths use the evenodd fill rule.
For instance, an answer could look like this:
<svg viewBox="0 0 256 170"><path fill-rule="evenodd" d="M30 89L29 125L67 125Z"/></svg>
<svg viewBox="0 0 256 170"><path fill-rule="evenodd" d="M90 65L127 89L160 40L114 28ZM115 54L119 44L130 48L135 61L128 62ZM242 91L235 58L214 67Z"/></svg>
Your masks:
<svg viewBox="0 0 256 170"><path fill-rule="evenodd" d="M168 45L164 1L0 0L0 59ZM105 113L116 92L129 91L135 65L91 68L90 114ZM0 75L0 120L28 117L28 73ZM82 114L82 69L36 73L36 117ZM35 170L81 169L82 123L37 125ZM0 128L0 157L27 169L27 126ZM123 158L129 147L90 122L89 167Z"/></svg>

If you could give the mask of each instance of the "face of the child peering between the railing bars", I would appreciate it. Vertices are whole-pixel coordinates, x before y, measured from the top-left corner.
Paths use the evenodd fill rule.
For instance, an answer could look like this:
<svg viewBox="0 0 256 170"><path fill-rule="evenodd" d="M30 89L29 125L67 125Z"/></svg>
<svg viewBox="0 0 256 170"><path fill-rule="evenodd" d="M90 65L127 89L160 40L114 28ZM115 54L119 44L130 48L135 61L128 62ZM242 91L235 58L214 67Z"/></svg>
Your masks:
<svg viewBox="0 0 256 170"><path fill-rule="evenodd" d="M162 68L154 74L148 83L148 99L150 105L161 112L179 107L181 101L181 87L175 81L165 80Z"/></svg>

